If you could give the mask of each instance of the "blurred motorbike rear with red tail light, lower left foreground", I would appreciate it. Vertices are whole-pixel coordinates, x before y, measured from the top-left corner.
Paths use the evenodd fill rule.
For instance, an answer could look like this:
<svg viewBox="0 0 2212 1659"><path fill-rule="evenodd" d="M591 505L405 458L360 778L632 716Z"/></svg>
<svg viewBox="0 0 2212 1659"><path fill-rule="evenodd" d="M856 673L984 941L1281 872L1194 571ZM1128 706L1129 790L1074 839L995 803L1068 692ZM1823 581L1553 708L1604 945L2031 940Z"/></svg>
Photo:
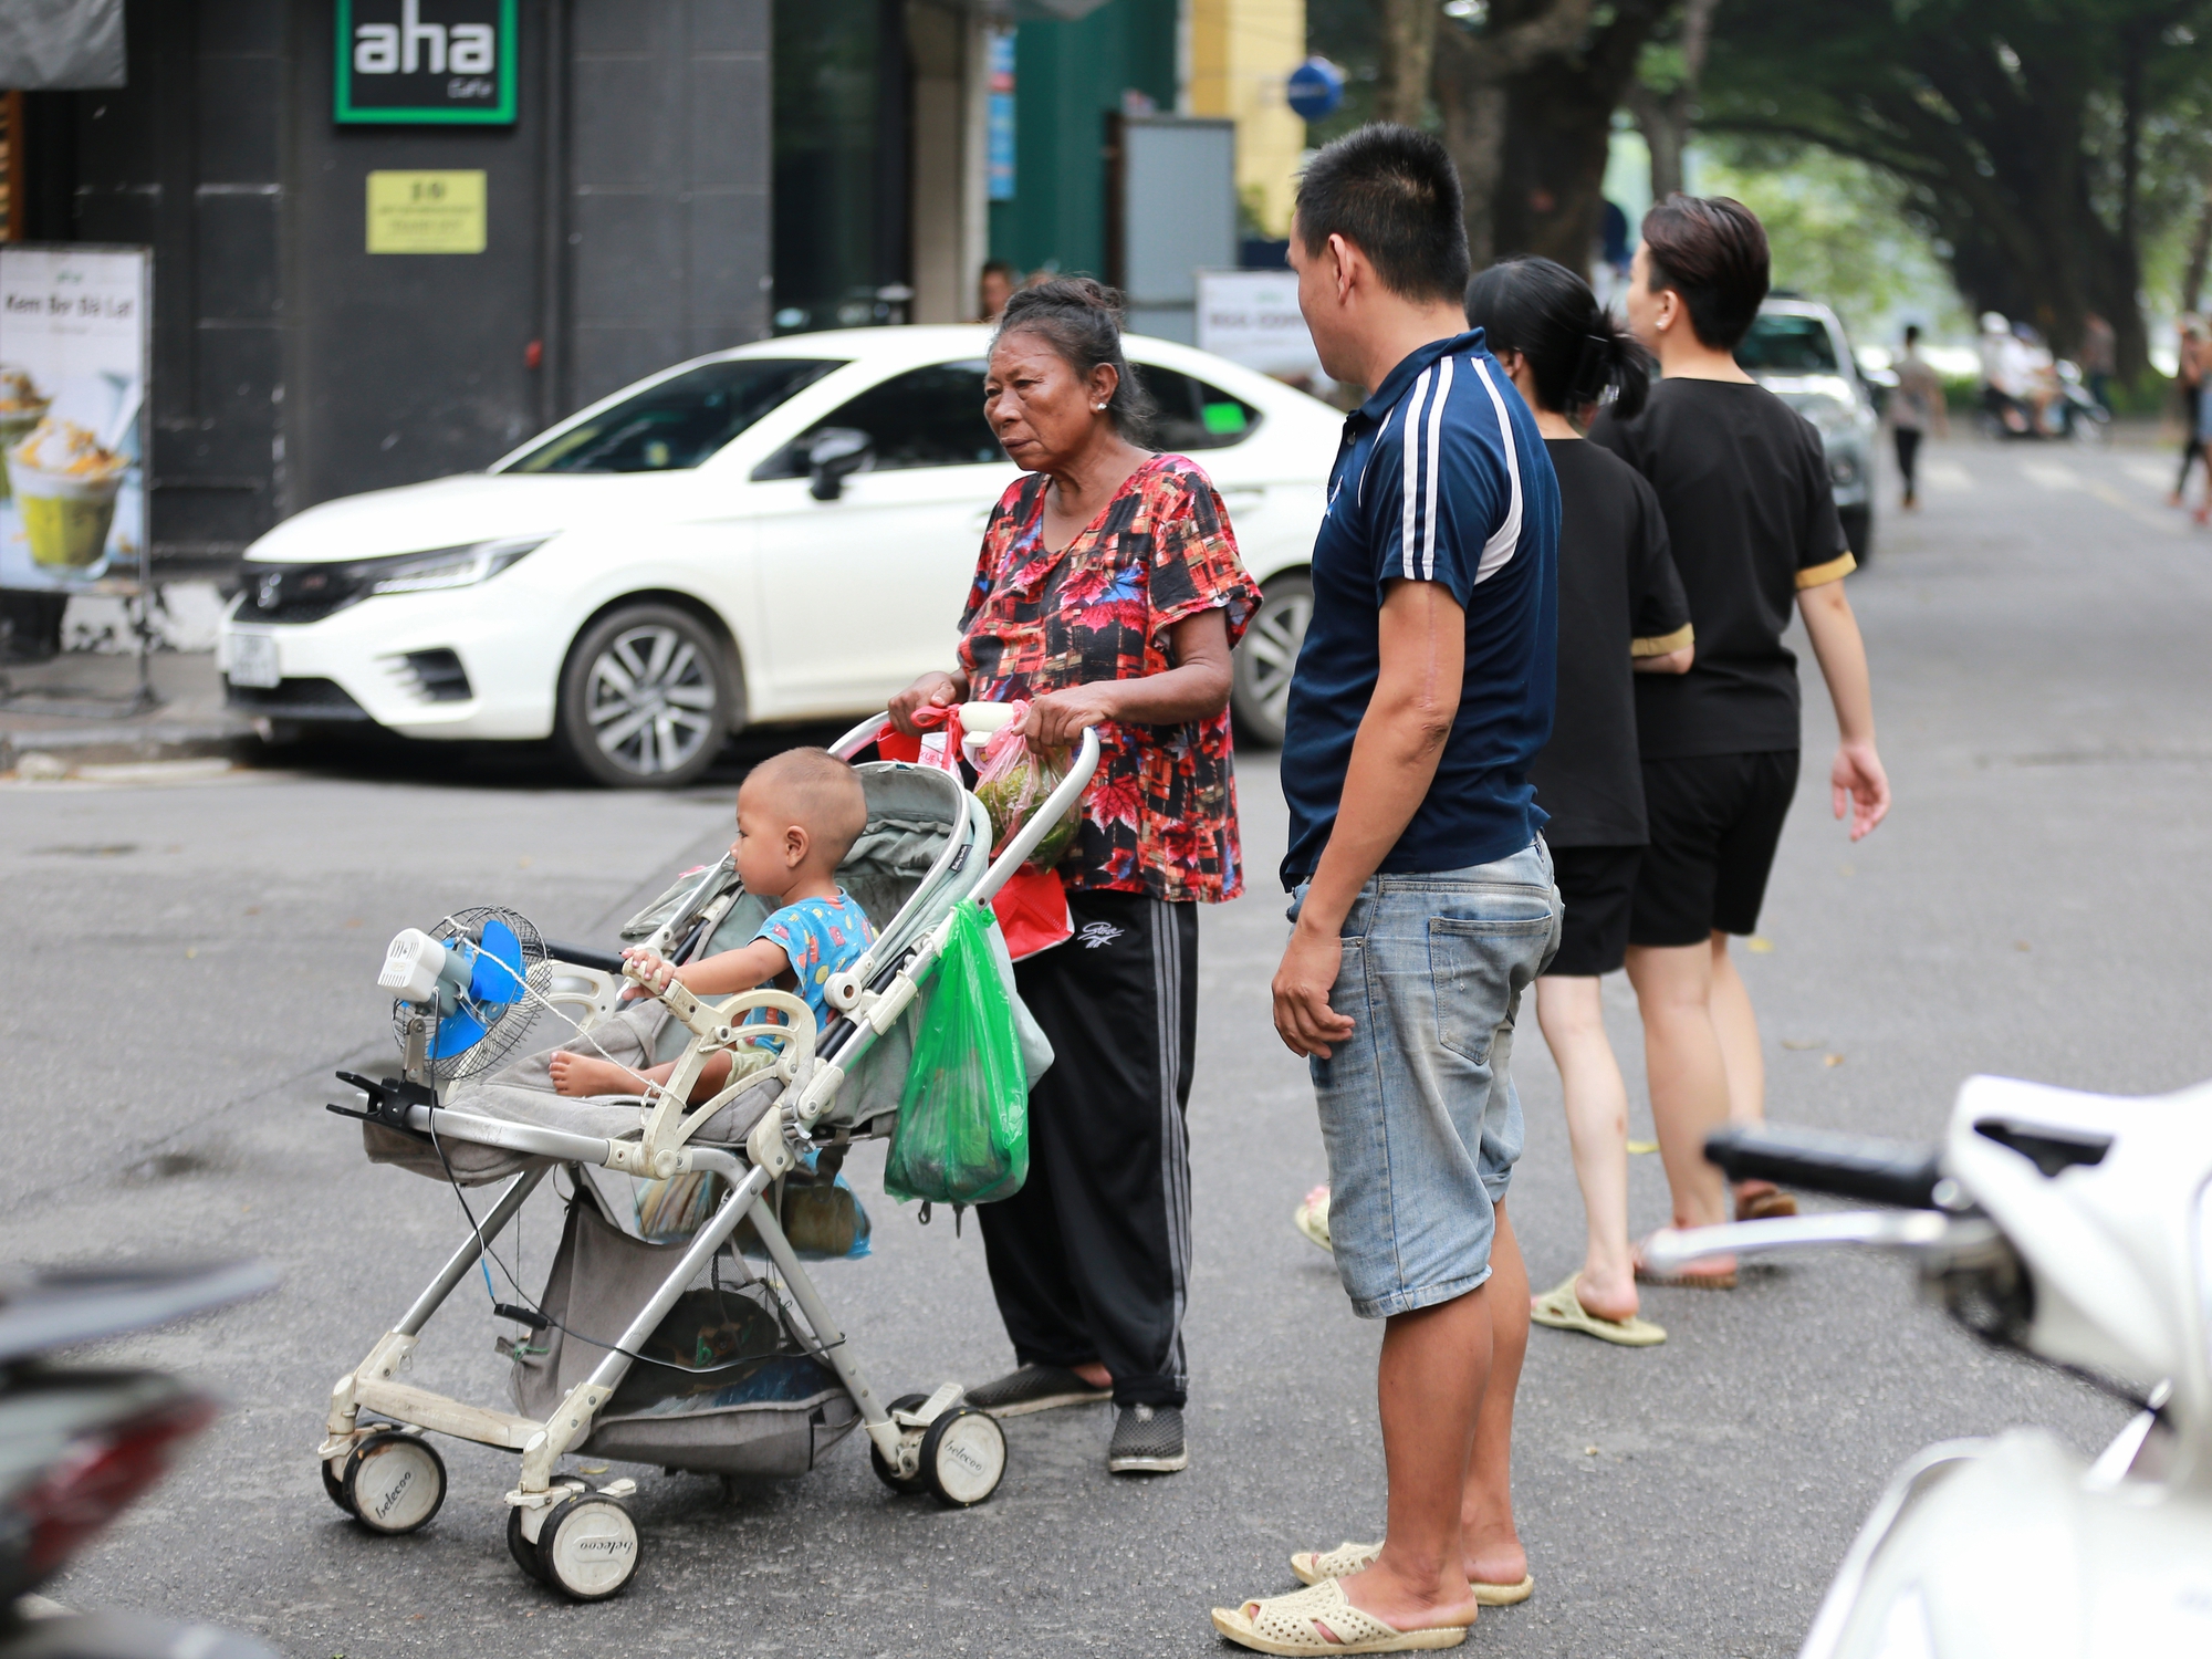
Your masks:
<svg viewBox="0 0 2212 1659"><path fill-rule="evenodd" d="M66 1365L60 1349L259 1296L259 1263L24 1274L0 1283L0 1659L276 1659L206 1624L69 1613L35 1590L215 1418L164 1371Z"/></svg>

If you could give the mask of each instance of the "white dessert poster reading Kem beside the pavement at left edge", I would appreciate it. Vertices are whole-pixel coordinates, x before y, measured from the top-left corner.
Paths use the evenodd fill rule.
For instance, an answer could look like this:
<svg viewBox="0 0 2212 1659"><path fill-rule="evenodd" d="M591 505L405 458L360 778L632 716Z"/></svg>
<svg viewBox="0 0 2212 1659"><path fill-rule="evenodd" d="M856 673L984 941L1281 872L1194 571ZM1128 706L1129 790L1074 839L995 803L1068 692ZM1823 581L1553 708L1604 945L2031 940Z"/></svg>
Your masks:
<svg viewBox="0 0 2212 1659"><path fill-rule="evenodd" d="M146 248L0 246L0 588L137 580L150 290Z"/></svg>

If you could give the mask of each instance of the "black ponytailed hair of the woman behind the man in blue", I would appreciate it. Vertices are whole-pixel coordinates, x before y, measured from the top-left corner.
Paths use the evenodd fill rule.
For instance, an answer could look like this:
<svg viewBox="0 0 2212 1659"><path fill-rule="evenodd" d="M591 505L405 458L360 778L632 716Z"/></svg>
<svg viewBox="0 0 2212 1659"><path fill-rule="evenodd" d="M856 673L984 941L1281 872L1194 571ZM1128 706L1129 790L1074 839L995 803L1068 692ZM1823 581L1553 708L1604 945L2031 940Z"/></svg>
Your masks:
<svg viewBox="0 0 2212 1659"><path fill-rule="evenodd" d="M1650 392L1650 356L1599 307L1590 285L1551 259L1506 259L1467 285L1467 321L1495 352L1520 352L1537 407L1579 416L1610 394L1635 416Z"/></svg>

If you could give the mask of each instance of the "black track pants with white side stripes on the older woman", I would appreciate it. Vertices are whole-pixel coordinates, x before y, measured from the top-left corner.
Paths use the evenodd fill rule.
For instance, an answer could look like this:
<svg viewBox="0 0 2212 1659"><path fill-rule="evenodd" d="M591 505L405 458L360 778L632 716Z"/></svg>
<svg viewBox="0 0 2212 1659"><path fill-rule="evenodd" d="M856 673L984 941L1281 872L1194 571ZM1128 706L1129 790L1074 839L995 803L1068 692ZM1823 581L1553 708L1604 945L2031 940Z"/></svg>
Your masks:
<svg viewBox="0 0 2212 1659"><path fill-rule="evenodd" d="M1053 1040L1029 1095L1029 1181L978 1206L1022 1365L1099 1360L1117 1405L1181 1405L1190 1285L1197 905L1068 894L1075 938L1013 978Z"/></svg>

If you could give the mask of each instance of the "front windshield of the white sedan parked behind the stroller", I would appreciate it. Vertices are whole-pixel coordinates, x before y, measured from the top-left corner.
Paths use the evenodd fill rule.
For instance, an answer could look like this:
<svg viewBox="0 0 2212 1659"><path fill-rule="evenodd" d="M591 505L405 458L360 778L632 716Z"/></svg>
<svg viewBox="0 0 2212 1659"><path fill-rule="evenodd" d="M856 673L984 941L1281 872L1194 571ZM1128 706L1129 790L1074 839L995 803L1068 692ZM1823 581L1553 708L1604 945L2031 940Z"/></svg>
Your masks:
<svg viewBox="0 0 2212 1659"><path fill-rule="evenodd" d="M841 361L821 356L701 363L533 445L502 471L659 473L697 467L779 403L841 367Z"/></svg>

